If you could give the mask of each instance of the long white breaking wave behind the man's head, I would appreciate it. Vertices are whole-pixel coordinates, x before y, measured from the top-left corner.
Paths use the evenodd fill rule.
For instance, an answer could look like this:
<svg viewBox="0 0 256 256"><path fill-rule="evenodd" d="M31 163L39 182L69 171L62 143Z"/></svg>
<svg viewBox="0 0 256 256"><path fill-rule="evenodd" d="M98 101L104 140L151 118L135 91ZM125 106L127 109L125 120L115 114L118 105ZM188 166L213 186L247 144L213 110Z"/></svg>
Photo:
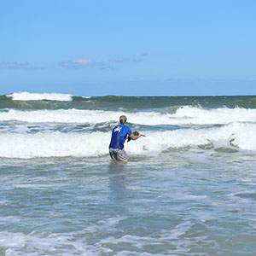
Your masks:
<svg viewBox="0 0 256 256"><path fill-rule="evenodd" d="M22 111L9 109L0 112L0 121L27 123L102 123L118 122L121 111L57 109ZM224 125L232 122L256 122L256 109L247 108L177 108L175 113L125 112L128 122L138 125Z"/></svg>

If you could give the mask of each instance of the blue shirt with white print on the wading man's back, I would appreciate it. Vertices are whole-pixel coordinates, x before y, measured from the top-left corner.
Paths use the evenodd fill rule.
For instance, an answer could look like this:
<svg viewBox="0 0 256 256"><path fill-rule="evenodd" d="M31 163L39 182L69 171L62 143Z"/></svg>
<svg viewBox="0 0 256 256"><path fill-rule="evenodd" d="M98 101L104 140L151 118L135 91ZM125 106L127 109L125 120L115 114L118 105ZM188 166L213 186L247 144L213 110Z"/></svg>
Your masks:
<svg viewBox="0 0 256 256"><path fill-rule="evenodd" d="M131 129L128 126L121 124L114 126L109 148L123 149L127 134L131 135Z"/></svg>

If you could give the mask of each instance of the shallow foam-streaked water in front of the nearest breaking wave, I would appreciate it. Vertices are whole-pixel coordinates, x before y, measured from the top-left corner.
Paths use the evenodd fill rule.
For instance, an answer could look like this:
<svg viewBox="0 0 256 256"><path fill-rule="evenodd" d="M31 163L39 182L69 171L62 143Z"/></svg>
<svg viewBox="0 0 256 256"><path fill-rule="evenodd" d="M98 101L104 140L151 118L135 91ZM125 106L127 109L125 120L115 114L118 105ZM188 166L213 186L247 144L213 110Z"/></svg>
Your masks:
<svg viewBox="0 0 256 256"><path fill-rule="evenodd" d="M2 160L5 255L253 255L253 155Z"/></svg>

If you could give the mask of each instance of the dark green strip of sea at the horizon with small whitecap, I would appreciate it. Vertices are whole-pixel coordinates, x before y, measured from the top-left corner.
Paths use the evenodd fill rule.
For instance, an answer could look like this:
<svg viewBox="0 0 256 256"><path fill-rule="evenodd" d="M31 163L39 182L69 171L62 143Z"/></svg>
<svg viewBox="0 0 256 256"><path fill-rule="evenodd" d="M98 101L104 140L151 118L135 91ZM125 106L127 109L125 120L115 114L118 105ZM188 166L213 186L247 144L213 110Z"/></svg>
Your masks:
<svg viewBox="0 0 256 256"><path fill-rule="evenodd" d="M73 96L60 93L15 92L0 96L0 108L18 109L101 109L130 112L139 110L174 113L177 108L256 108L255 96L173 97L173 96Z"/></svg>

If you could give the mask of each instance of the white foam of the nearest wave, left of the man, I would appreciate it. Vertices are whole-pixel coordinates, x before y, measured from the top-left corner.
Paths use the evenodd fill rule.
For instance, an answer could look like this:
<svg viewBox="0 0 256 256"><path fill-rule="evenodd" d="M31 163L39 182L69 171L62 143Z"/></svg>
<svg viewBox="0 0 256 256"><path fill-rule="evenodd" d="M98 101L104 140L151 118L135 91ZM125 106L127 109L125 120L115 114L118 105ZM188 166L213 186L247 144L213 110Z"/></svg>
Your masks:
<svg viewBox="0 0 256 256"><path fill-rule="evenodd" d="M108 153L109 133L0 132L0 156L9 158L98 156Z"/></svg>

